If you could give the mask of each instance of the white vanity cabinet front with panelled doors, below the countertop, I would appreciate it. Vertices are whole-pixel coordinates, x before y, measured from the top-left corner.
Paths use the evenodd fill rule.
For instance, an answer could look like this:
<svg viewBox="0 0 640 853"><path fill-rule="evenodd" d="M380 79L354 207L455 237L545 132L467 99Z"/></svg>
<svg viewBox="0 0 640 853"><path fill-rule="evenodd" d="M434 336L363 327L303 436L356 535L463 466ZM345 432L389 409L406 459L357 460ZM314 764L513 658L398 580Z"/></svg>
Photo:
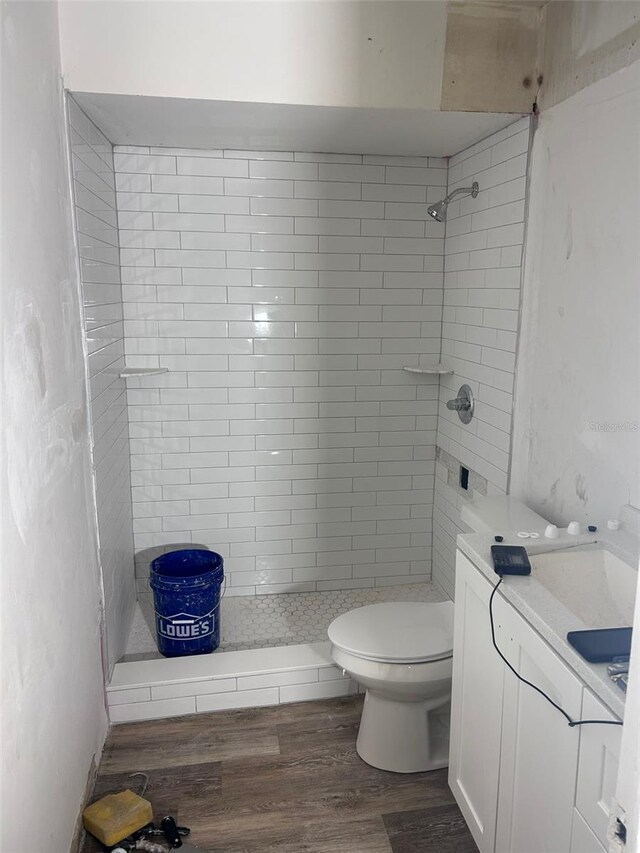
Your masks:
<svg viewBox="0 0 640 853"><path fill-rule="evenodd" d="M621 727L570 727L508 670L492 588L458 551L449 784L480 853L602 853ZM615 719L499 594L493 613L524 678L572 719Z"/></svg>

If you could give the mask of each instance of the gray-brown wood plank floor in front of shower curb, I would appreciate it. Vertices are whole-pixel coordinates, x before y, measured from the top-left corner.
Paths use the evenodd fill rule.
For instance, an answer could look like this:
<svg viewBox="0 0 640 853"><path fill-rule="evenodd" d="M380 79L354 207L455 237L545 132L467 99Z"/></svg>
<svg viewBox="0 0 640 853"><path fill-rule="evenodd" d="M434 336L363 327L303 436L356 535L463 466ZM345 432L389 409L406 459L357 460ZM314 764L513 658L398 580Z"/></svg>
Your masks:
<svg viewBox="0 0 640 853"><path fill-rule="evenodd" d="M477 853L447 771L387 773L357 755L361 697L114 726L94 798L145 797L208 853ZM85 838L82 853L100 845Z"/></svg>

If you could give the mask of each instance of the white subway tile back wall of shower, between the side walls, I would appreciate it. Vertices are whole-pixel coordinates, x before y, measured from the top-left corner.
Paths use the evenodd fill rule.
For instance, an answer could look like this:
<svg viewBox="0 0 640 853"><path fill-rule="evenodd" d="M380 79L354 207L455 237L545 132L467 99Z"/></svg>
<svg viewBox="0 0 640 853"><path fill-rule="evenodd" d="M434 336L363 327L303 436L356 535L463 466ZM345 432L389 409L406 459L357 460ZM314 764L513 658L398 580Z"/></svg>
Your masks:
<svg viewBox="0 0 640 853"><path fill-rule="evenodd" d="M225 557L227 594L429 576L444 226L434 158L115 149L138 589Z"/></svg>

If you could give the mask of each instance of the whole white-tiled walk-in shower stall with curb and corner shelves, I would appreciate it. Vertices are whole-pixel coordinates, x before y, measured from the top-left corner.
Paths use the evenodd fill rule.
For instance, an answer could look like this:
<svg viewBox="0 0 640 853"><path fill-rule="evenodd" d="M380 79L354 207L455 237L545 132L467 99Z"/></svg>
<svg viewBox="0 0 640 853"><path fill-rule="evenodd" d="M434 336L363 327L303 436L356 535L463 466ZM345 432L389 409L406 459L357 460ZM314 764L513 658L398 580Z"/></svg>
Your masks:
<svg viewBox="0 0 640 853"><path fill-rule="evenodd" d="M529 120L448 158L114 147L90 114L68 98L112 720L353 691L329 622L451 596L460 507L507 488ZM224 557L222 641L169 660L149 563L180 547Z"/></svg>

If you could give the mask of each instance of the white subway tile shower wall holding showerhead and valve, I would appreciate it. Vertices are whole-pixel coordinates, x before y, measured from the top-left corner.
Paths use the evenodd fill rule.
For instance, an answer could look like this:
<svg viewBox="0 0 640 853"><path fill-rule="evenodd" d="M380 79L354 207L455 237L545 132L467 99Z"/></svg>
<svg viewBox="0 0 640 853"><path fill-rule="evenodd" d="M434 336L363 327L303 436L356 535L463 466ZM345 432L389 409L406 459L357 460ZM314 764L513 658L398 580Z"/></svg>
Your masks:
<svg viewBox="0 0 640 853"><path fill-rule="evenodd" d="M489 494L508 487L529 136L523 118L449 161L449 192L478 181L480 193L449 205L442 360L455 373L440 383L437 442L486 478ZM465 382L476 399L468 426L446 408ZM437 463L433 578L453 596L455 538L468 528L460 519L466 498L447 475Z"/></svg>

